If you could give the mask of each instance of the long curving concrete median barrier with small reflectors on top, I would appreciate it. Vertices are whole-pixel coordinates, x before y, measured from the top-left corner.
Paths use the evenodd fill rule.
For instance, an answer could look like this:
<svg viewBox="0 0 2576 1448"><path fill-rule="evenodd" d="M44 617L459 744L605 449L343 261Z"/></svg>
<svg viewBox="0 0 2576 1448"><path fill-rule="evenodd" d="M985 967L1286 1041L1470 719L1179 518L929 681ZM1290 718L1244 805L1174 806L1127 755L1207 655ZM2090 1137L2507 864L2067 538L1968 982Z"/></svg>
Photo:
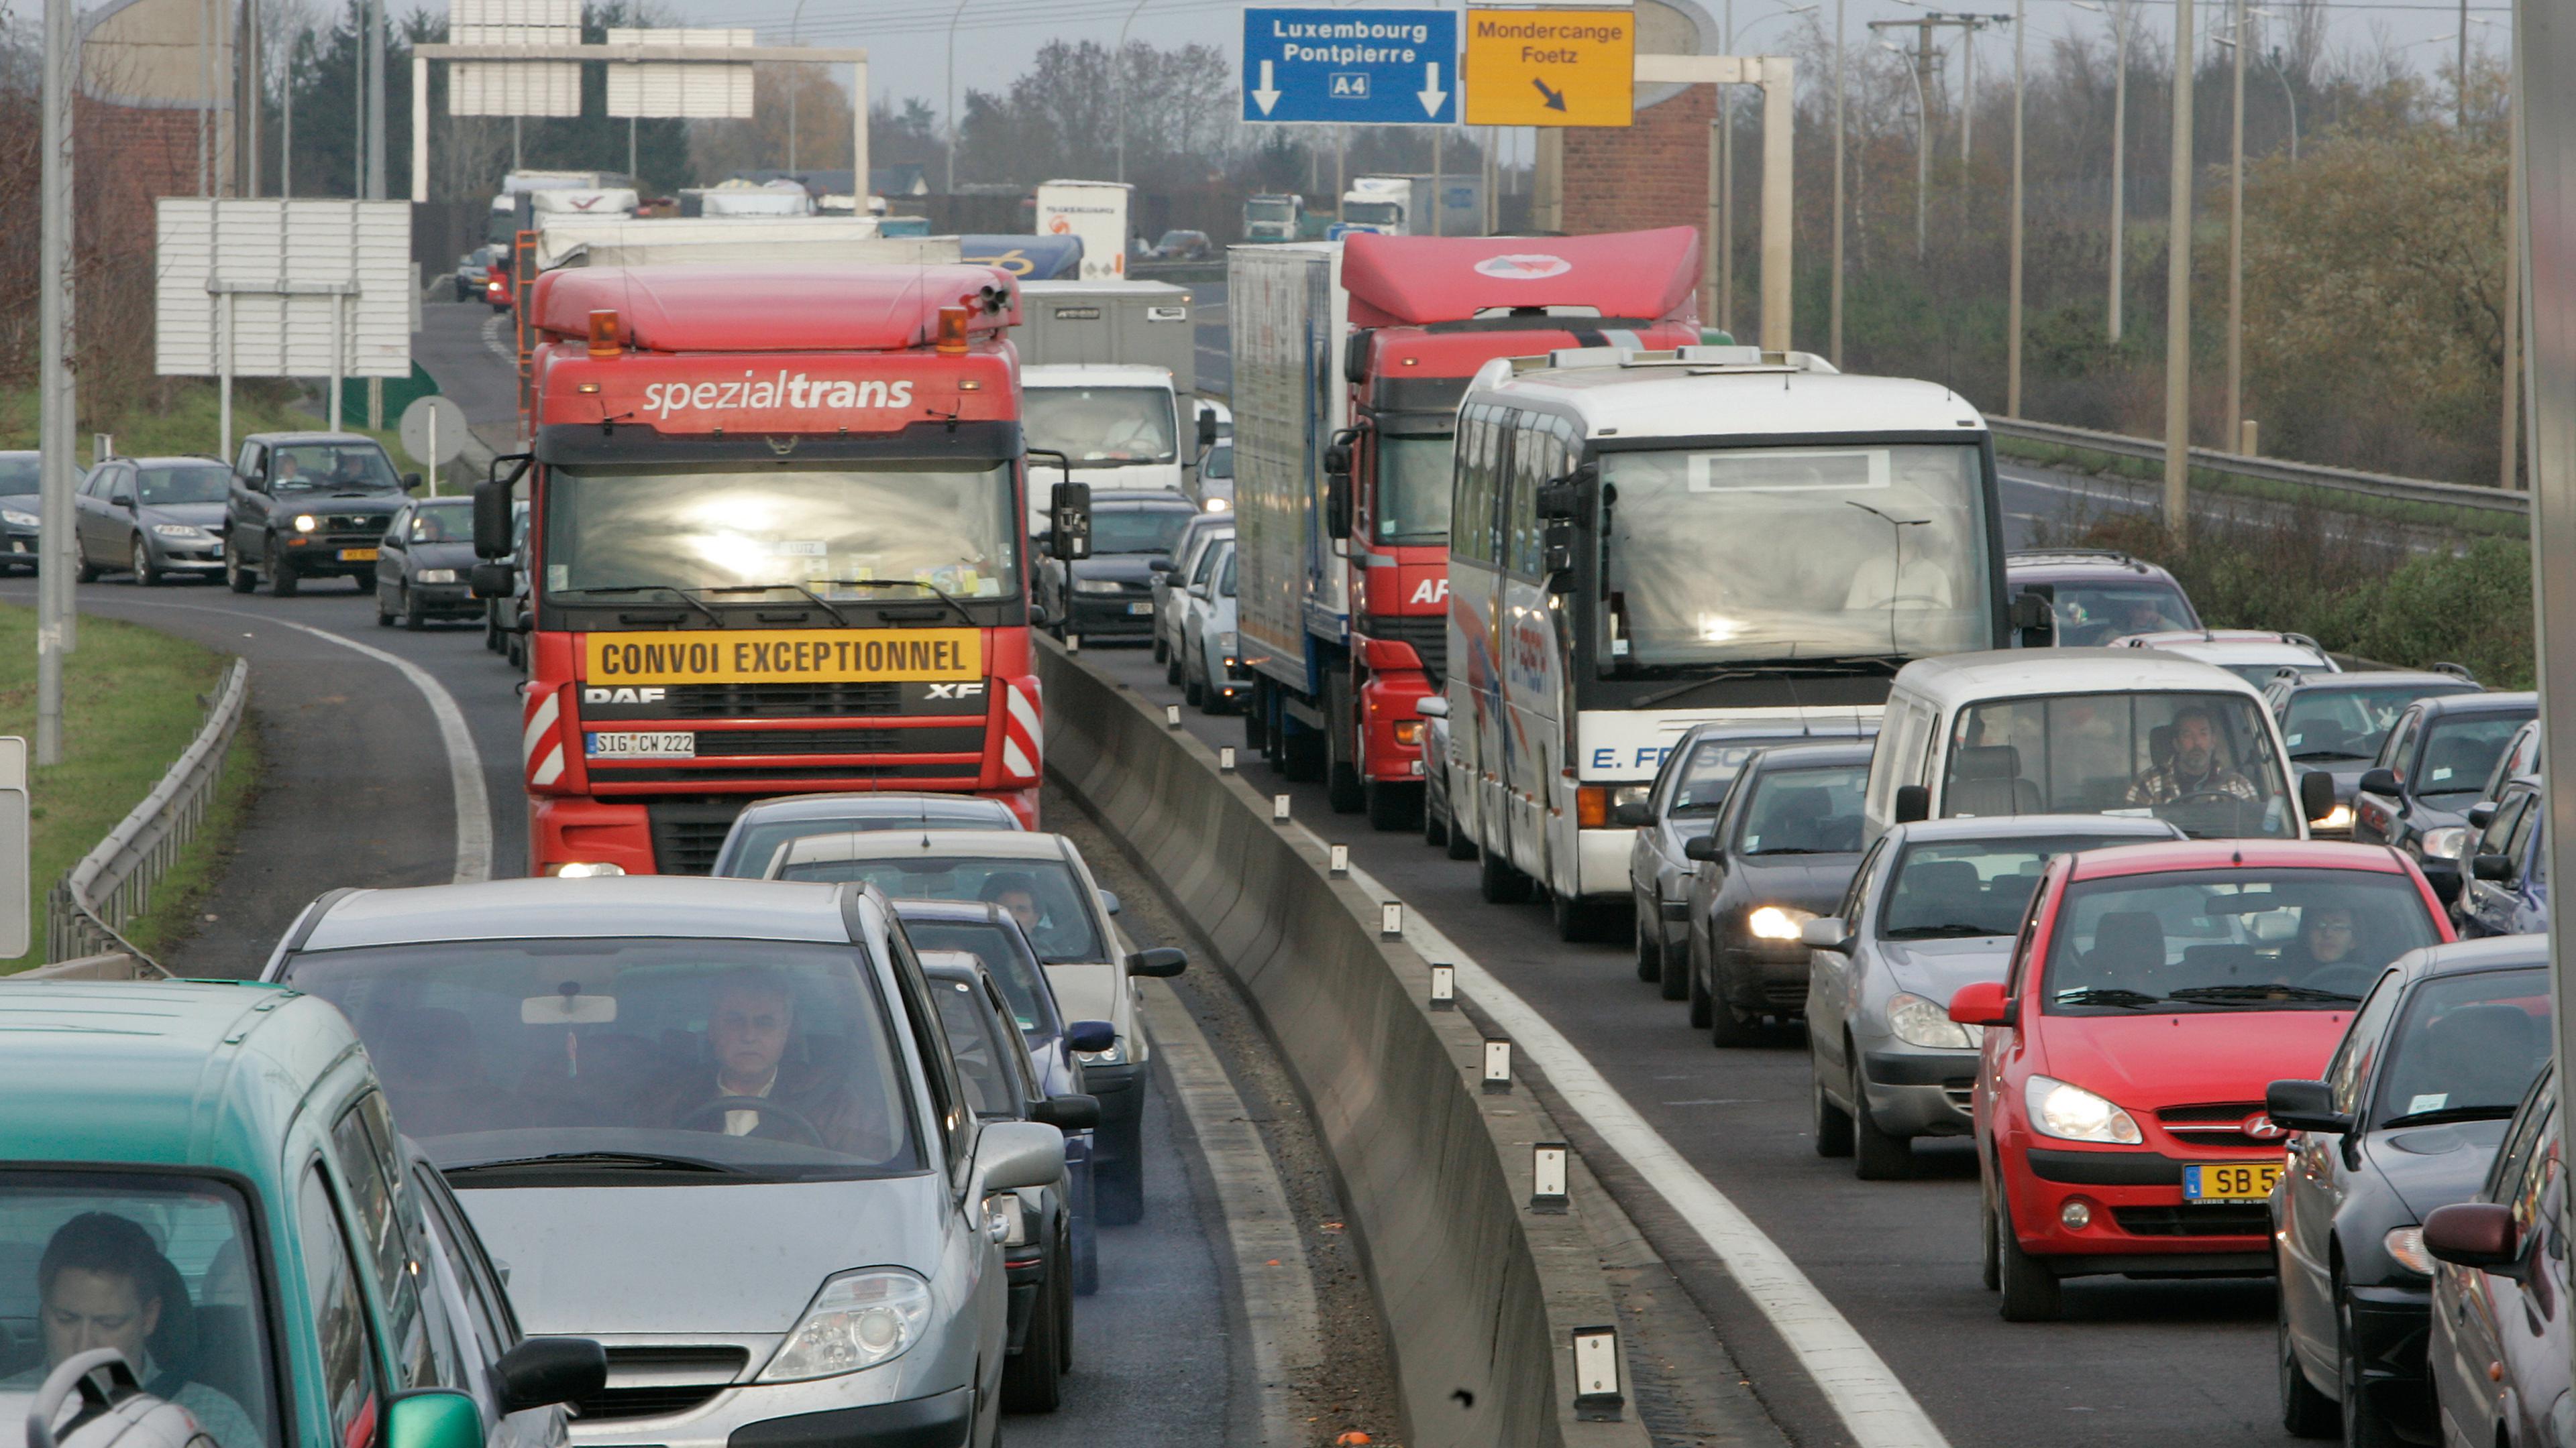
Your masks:
<svg viewBox="0 0 2576 1448"><path fill-rule="evenodd" d="M1430 1010L1430 964L1378 899L1123 685L1041 647L1046 765L1216 943L1314 1110L1386 1322L1404 1443L1643 1448L1577 1417L1571 1335L1615 1324L1579 1216L1528 1211L1564 1131L1522 1085L1481 1090L1484 1036ZM1623 1384L1633 1381L1620 1371Z"/></svg>

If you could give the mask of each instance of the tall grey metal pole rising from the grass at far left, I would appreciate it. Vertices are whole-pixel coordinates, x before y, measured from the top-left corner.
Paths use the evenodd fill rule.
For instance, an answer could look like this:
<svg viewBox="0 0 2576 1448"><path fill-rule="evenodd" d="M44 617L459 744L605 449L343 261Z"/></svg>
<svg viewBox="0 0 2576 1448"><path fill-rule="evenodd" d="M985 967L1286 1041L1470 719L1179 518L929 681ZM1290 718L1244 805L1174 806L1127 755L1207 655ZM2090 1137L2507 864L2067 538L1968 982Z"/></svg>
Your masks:
<svg viewBox="0 0 2576 1448"><path fill-rule="evenodd" d="M62 763L62 654L72 644L72 0L44 0L44 119L36 201L39 551L36 763Z"/></svg>

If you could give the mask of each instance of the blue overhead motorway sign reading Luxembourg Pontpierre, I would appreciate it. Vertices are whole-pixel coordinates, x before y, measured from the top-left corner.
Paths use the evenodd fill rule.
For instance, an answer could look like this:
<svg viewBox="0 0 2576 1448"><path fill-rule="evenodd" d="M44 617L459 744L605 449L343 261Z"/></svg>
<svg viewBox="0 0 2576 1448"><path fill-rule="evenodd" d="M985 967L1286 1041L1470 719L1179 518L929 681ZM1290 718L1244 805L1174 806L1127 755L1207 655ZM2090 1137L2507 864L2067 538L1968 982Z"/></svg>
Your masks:
<svg viewBox="0 0 2576 1448"><path fill-rule="evenodd" d="M1455 10L1244 10L1244 121L1458 124Z"/></svg>

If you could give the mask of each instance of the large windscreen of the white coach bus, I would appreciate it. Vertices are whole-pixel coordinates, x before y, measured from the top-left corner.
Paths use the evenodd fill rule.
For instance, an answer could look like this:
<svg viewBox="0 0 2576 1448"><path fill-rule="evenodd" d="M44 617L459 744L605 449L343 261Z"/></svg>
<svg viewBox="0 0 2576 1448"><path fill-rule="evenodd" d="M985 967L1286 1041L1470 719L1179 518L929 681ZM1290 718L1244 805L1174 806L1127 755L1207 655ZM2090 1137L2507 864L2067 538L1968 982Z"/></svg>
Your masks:
<svg viewBox="0 0 2576 1448"><path fill-rule="evenodd" d="M1602 456L1602 672L1991 647L1973 446Z"/></svg>

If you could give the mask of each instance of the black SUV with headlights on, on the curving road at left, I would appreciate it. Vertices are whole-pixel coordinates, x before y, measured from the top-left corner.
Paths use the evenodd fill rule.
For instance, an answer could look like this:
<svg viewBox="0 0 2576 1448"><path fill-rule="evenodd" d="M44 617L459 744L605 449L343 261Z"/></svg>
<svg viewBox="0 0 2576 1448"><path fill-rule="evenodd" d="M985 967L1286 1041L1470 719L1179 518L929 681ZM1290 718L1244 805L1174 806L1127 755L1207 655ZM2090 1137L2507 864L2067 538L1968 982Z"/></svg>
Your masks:
<svg viewBox="0 0 2576 1448"><path fill-rule="evenodd" d="M289 598L307 577L376 587L376 546L420 474L394 477L376 438L252 433L224 500L224 582Z"/></svg>

